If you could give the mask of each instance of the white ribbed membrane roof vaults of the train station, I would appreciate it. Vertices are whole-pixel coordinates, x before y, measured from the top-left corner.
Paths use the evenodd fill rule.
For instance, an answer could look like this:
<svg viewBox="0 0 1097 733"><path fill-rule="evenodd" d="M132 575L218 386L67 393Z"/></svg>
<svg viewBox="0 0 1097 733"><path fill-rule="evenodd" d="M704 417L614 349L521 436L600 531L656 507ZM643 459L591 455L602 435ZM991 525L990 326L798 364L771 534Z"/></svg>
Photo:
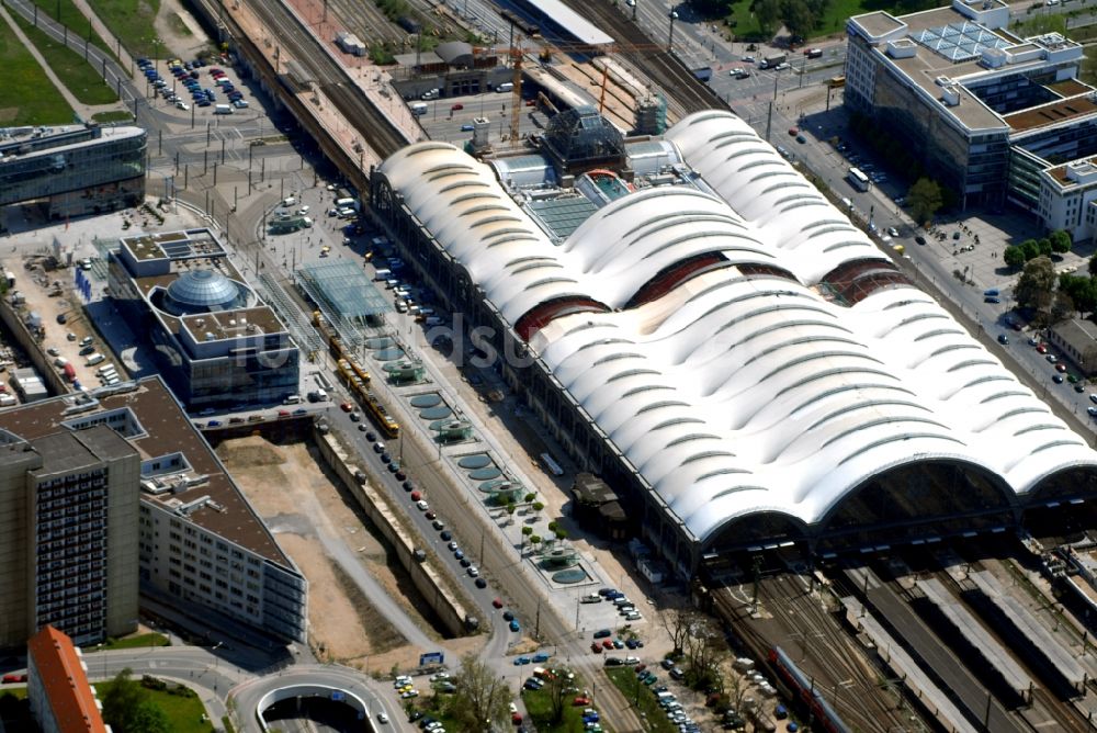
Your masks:
<svg viewBox="0 0 1097 733"><path fill-rule="evenodd" d="M826 273L890 260L745 123L701 112L667 138L719 199L641 189L558 246L450 145L412 145L381 172L510 324L568 296L613 309L555 317L530 345L701 542L760 512L816 525L867 478L915 461L979 465L1016 494L1097 466L921 291L825 300ZM625 308L660 272L712 253L727 267ZM736 267L756 264L799 282Z"/></svg>

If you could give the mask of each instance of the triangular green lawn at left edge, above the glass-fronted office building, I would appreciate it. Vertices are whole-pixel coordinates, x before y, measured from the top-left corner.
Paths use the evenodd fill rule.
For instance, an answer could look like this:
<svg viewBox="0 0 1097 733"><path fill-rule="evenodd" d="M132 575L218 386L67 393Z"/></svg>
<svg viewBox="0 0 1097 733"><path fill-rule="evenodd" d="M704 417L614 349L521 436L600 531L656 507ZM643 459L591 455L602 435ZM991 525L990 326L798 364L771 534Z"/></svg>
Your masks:
<svg viewBox="0 0 1097 733"><path fill-rule="evenodd" d="M57 125L72 109L7 23L0 23L0 126Z"/></svg>

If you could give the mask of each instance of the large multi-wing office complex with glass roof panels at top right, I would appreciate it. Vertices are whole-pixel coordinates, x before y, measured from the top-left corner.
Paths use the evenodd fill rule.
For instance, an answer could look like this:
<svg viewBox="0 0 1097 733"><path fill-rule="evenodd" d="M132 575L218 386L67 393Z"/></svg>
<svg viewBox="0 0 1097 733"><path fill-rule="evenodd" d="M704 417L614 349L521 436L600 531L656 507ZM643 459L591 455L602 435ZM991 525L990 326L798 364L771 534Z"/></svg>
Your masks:
<svg viewBox="0 0 1097 733"><path fill-rule="evenodd" d="M1058 33L1018 37L1008 25L1000 0L853 16L845 104L962 207L1008 201L1049 229L1088 238L1086 204L1097 194L1079 190L1087 170L1064 168L1097 155L1097 90L1078 80L1084 49Z"/></svg>

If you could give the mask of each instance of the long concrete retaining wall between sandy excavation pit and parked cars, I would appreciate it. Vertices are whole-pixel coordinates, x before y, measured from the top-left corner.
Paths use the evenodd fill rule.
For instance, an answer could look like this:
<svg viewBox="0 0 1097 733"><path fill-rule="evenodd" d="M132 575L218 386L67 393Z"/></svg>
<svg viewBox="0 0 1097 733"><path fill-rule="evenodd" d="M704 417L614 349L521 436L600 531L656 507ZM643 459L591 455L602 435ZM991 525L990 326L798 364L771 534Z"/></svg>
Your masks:
<svg viewBox="0 0 1097 733"><path fill-rule="evenodd" d="M370 518L370 521L376 525L385 539L392 543L396 550L396 556L399 559L400 565L408 572L416 590L422 595L423 599L434 610L445 630L453 636L461 636L467 633L468 629L465 627L465 618L468 613L464 606L442 587L440 583L441 578L430 567L429 562L416 562L412 555L415 544L400 532L393 510L385 498L370 486L369 483L364 485L358 483L354 478L354 474L359 471L358 466L348 462L347 454L340 448L339 443L336 442L335 438L329 435L321 435L319 431L314 432L314 438L316 446L319 448L320 455L324 456L328 466L339 476L347 490L358 500L365 515Z"/></svg>

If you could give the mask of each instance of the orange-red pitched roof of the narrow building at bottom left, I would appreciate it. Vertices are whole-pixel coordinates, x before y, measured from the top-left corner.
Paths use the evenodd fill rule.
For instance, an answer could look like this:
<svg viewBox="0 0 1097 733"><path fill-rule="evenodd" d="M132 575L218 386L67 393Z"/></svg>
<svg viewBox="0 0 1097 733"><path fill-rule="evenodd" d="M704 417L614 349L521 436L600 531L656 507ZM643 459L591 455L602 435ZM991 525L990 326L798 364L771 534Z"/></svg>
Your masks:
<svg viewBox="0 0 1097 733"><path fill-rule="evenodd" d="M65 733L106 733L72 640L47 625L26 646L58 728Z"/></svg>

